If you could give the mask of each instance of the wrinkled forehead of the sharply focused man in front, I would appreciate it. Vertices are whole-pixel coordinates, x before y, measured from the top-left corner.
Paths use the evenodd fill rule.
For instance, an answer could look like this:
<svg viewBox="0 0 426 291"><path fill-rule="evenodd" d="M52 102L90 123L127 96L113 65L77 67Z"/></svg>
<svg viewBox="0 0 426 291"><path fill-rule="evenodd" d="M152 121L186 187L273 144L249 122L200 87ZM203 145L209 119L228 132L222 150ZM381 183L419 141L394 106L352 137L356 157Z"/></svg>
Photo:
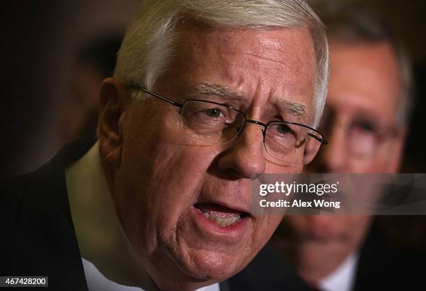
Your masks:
<svg viewBox="0 0 426 291"><path fill-rule="evenodd" d="M248 96L261 87L267 95L297 100L311 109L316 62L308 28L212 29L181 24L175 48L173 77L180 81L193 85L194 79L213 81Z"/></svg>

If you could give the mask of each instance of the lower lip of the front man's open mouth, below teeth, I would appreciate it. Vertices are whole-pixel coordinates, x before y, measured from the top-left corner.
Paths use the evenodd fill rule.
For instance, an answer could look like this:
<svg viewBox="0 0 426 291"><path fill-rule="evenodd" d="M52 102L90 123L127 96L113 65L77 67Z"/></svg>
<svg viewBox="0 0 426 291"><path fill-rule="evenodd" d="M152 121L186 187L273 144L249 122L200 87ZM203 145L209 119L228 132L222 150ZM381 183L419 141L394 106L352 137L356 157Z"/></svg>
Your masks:
<svg viewBox="0 0 426 291"><path fill-rule="evenodd" d="M219 224L205 217L204 212L198 208L192 206L191 210L194 213L196 224L203 230L203 233L217 235L226 240L241 239L245 233L247 223L251 220L250 217L243 217L230 226L219 226Z"/></svg>

